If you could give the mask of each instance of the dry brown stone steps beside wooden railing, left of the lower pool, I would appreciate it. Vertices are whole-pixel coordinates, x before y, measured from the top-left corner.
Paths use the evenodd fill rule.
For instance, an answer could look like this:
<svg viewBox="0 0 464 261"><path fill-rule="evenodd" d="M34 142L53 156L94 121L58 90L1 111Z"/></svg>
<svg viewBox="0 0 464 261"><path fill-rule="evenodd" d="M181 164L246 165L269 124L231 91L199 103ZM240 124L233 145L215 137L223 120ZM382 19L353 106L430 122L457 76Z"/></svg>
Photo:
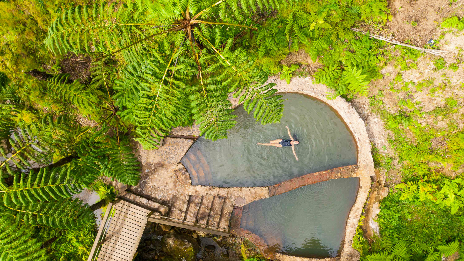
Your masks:
<svg viewBox="0 0 464 261"><path fill-rule="evenodd" d="M210 229L229 229L233 205L232 199L224 196L180 196L168 217Z"/></svg>

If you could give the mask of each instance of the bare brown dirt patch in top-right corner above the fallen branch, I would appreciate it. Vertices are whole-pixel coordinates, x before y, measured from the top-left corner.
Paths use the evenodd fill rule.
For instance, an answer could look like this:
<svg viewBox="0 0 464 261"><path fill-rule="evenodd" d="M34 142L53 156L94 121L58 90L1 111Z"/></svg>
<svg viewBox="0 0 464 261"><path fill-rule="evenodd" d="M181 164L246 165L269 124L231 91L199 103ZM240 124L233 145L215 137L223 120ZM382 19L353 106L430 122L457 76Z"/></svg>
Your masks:
<svg viewBox="0 0 464 261"><path fill-rule="evenodd" d="M387 22L396 40L422 47L429 39L438 39L441 30L437 26L445 19L464 14L464 0L393 0L389 1L393 16ZM415 22L417 25L413 25Z"/></svg>

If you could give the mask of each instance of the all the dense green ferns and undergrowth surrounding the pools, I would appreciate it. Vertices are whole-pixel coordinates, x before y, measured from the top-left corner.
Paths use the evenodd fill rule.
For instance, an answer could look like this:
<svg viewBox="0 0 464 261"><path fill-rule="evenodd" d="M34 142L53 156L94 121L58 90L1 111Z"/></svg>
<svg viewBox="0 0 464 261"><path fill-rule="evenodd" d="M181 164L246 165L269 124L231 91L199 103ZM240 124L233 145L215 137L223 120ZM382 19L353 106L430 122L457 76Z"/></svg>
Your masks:
<svg viewBox="0 0 464 261"><path fill-rule="evenodd" d="M290 82L299 65L281 61L303 49L322 64L312 76L333 89L329 98L369 96L393 134L388 143L398 164L375 148L373 157L376 168L399 171L399 184L381 202L380 235L371 245L358 228L361 259L462 253L464 183L441 167L464 164L464 133L458 124L419 123L450 117L462 104L448 98L423 113L402 99L398 113L388 112L381 100L387 91L433 86L433 79L405 82L401 73L390 90L368 92L382 66L417 68L422 55L350 30L384 24L389 12L385 0L0 1L0 237L14 241L1 241L0 252L85 260L95 216L73 194L90 188L109 202L114 189L99 177L137 184L131 139L156 149L172 128L194 121L208 138L227 137L235 124L230 94L257 122L278 122L284 108L267 78L281 73ZM462 30L464 23L453 16L441 26ZM62 63L79 57L92 61L88 71ZM446 67L443 58L433 64L437 72L462 66ZM445 88L433 86L430 95ZM436 137L446 147L431 150Z"/></svg>

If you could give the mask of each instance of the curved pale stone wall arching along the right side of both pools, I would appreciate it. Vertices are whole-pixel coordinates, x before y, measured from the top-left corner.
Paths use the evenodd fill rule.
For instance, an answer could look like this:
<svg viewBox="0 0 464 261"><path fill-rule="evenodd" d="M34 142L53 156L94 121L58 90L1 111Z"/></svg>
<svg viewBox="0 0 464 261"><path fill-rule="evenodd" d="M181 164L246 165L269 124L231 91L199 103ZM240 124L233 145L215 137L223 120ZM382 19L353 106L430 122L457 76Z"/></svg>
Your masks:
<svg viewBox="0 0 464 261"><path fill-rule="evenodd" d="M273 260L278 261L357 261L359 260L359 253L352 248L353 236L356 232L358 226L358 221L361 216L362 209L364 207L364 202L367 200L368 192L371 185L370 176L374 176L374 161L371 154L371 144L369 137L367 136L366 125L361 119L356 110L348 103L345 99L337 97L335 99L327 99L327 95L333 93L327 86L321 84L313 84L310 78L292 78L290 84L287 84L284 80L280 80L277 77L269 78L268 82L276 83L274 87L279 92L297 92L310 95L314 98L317 98L327 104L329 104L337 113L342 117L345 124L348 126L348 129L354 136L354 140L358 149L358 162L357 167L355 168L354 173L351 171L344 174L346 177L359 177L360 178L360 188L358 190L358 195L356 201L354 202L353 207L348 215L347 225L345 228L345 240L343 242L342 252L339 257L335 258L324 258L324 259L310 259L303 257L290 256L286 254L278 253L265 253ZM237 105L237 100L231 98L231 101L234 105ZM339 169L339 168L337 168ZM336 170L336 169L334 169ZM332 171L334 171L332 170ZM310 176L311 174L305 175ZM327 174L326 174L327 175ZM294 186L293 189L305 185L305 176L301 178L295 178L287 182L287 186ZM332 176L331 177L338 177ZM321 180L322 181L322 180ZM310 183L310 180L307 181ZM316 181L317 182L317 181ZM284 182L286 183L286 182ZM281 186L284 183L277 184L276 186ZM275 187L275 186L273 186ZM275 193L276 188L270 187L270 195ZM291 189L291 188L290 188ZM288 189L284 189L288 191ZM280 193L278 193L280 194ZM277 194L274 194L277 195ZM238 211L239 212L239 211ZM239 230L239 229L238 229ZM245 231L244 231L245 232ZM241 234L241 233L238 233ZM254 235L254 234L253 234ZM255 236L248 234L251 238L256 238ZM262 239L256 239L256 243L259 246L262 244ZM263 250L265 252L265 250Z"/></svg>

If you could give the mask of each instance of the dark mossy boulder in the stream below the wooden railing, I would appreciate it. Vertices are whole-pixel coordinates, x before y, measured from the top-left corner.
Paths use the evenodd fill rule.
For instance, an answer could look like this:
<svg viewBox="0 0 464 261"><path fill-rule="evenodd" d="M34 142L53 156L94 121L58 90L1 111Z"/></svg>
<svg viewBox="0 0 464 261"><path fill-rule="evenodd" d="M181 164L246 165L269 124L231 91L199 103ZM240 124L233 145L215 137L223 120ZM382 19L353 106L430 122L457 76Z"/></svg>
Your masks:
<svg viewBox="0 0 464 261"><path fill-rule="evenodd" d="M163 251L176 261L195 261L198 242L187 234L171 231L161 239Z"/></svg>

